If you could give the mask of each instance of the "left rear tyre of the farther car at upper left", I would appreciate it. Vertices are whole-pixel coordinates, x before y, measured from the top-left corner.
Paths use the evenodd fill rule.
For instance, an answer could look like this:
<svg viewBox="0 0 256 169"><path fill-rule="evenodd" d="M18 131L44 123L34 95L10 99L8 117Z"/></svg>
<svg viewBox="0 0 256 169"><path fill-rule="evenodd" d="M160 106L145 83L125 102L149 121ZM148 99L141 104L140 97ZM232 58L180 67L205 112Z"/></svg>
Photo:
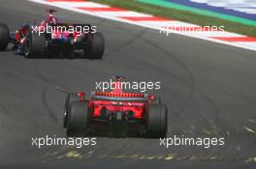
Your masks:
<svg viewBox="0 0 256 169"><path fill-rule="evenodd" d="M48 47L45 36L29 33L29 37L23 46L23 51L26 58L47 57Z"/></svg>

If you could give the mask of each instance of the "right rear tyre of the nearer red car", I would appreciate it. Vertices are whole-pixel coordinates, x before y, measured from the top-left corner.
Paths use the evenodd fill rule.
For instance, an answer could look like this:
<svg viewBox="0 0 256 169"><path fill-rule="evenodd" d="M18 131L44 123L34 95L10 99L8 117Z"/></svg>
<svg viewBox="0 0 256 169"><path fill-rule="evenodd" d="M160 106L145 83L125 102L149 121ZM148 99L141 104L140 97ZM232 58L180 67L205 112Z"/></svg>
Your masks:
<svg viewBox="0 0 256 169"><path fill-rule="evenodd" d="M164 138L167 134L167 107L162 104L149 104L146 119L147 137Z"/></svg>

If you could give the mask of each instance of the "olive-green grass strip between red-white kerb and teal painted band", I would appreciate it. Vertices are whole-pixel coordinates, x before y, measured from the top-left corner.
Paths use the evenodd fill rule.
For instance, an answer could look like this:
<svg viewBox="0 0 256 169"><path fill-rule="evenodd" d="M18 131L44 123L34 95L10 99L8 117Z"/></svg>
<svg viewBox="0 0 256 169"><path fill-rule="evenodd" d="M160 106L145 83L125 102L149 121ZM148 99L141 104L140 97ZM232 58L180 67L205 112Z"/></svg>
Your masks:
<svg viewBox="0 0 256 169"><path fill-rule="evenodd" d="M225 26L225 31L235 32L242 35L256 37L256 26L249 26L238 22L232 22L216 17L195 14L191 12L164 8L150 4L144 4L136 0L89 0L102 4L112 5L113 7L124 8L144 14L153 14L166 18L176 19L201 26Z"/></svg>

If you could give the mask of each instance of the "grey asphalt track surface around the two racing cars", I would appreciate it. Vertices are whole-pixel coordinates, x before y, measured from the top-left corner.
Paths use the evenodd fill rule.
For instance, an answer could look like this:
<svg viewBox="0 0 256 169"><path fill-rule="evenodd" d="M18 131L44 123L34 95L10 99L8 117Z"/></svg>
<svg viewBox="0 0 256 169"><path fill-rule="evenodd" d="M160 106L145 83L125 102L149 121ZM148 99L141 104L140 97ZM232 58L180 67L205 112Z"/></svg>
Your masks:
<svg viewBox="0 0 256 169"><path fill-rule="evenodd" d="M15 30L43 18L45 9L23 0L1 1L0 22ZM245 162L256 156L255 52L163 37L154 30L64 10L59 15L62 21L97 25L106 37L104 60L24 59L11 46L1 52L1 169L255 168L255 162ZM168 105L169 137L224 136L225 146L165 149L155 139L108 137L82 149L31 146L31 137L65 136L66 92L91 91L95 81L113 74L162 82L154 94Z"/></svg>

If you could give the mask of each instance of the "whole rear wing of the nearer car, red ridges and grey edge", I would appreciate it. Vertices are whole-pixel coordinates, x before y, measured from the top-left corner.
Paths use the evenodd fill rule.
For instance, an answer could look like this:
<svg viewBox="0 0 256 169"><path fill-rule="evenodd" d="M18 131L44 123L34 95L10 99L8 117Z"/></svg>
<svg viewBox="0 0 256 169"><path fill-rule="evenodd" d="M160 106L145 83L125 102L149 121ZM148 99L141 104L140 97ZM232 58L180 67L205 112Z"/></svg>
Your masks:
<svg viewBox="0 0 256 169"><path fill-rule="evenodd" d="M92 100L108 100L119 102L146 102L147 94L141 93L112 93L112 92L92 92Z"/></svg>

